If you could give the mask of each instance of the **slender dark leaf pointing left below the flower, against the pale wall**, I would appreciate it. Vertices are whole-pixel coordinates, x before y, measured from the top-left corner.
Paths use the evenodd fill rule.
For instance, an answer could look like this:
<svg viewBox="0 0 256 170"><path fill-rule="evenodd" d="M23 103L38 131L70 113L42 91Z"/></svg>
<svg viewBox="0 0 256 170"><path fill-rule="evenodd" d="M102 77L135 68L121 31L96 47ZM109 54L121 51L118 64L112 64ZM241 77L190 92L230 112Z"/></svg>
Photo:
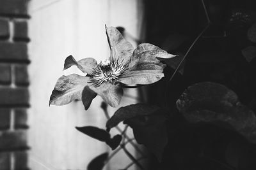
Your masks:
<svg viewBox="0 0 256 170"><path fill-rule="evenodd" d="M99 141L109 141L110 134L106 132L104 129L99 129L98 127L93 126L84 126L84 127L76 127L77 131L82 132L92 138L98 139Z"/></svg>

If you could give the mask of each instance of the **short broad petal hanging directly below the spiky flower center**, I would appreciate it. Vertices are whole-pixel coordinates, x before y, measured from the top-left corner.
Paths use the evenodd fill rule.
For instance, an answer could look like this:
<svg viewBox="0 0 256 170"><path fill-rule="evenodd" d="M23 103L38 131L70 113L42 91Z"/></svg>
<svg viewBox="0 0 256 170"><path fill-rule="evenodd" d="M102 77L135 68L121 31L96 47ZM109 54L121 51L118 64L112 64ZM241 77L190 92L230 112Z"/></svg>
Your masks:
<svg viewBox="0 0 256 170"><path fill-rule="evenodd" d="M90 89L99 94L106 103L114 108L120 104L124 94L122 87L111 83L102 83L99 87L91 85Z"/></svg>

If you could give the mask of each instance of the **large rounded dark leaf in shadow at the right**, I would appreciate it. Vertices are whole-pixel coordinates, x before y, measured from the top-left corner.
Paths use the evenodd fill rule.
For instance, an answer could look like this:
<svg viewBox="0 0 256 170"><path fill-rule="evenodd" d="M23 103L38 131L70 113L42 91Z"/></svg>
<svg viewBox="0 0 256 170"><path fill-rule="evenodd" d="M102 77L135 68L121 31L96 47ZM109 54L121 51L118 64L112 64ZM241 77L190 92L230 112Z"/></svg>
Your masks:
<svg viewBox="0 0 256 170"><path fill-rule="evenodd" d="M256 143L256 117L243 106L236 93L212 82L188 87L177 101L177 108L191 123L207 122L237 131Z"/></svg>

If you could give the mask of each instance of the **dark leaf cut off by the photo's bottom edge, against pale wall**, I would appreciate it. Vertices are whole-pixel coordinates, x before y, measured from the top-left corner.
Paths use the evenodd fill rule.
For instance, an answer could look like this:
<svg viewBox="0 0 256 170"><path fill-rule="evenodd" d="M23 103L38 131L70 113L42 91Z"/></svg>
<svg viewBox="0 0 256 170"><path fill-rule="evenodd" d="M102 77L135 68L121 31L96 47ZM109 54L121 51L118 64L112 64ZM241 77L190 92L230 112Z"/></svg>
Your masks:
<svg viewBox="0 0 256 170"><path fill-rule="evenodd" d="M87 166L87 170L102 170L105 161L108 159L108 152L102 153L101 155L95 157Z"/></svg>

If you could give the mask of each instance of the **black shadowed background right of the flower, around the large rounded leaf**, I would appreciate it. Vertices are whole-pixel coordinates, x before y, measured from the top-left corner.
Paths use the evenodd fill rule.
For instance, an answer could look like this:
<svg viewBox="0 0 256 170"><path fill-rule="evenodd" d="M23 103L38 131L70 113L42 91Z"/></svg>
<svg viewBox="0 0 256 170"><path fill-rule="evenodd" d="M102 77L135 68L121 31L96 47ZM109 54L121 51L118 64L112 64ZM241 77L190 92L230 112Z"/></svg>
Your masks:
<svg viewBox="0 0 256 170"><path fill-rule="evenodd" d="M151 169L256 169L256 147L234 131L209 124L189 124L176 109L180 94L193 83L212 81L234 90L255 112L256 59L242 50L255 46L248 29L256 22L256 1L205 0L211 25L195 43L182 67L166 67L166 77L148 90L149 102L171 110L169 143L163 162L152 156ZM145 1L146 41L182 56L206 27L202 1Z"/></svg>

